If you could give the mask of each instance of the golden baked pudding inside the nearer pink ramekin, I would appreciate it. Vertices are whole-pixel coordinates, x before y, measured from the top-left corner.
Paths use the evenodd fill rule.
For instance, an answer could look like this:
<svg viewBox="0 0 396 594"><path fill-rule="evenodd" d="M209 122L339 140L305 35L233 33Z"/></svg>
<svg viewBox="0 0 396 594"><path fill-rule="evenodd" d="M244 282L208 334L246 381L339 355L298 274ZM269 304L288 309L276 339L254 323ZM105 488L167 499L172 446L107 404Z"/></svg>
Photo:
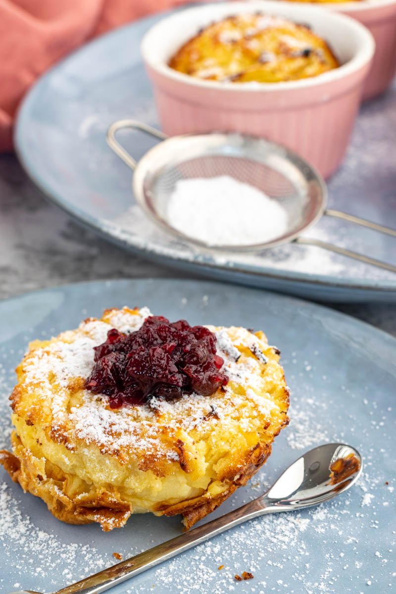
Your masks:
<svg viewBox="0 0 396 594"><path fill-rule="evenodd" d="M183 74L233 83L299 80L338 65L325 40L307 26L258 13L210 24L169 61Z"/></svg>

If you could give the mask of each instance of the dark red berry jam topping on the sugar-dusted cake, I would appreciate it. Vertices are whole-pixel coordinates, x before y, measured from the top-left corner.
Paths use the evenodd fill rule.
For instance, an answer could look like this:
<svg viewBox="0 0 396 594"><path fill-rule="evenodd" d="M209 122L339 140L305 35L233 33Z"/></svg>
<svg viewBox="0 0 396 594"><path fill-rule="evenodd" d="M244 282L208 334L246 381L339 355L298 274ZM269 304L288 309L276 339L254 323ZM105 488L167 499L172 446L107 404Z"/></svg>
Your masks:
<svg viewBox="0 0 396 594"><path fill-rule="evenodd" d="M153 315L131 334L112 328L94 351L96 363L85 388L106 394L112 408L193 391L209 396L228 382L220 372L224 361L216 354L214 334L185 320L170 323Z"/></svg>

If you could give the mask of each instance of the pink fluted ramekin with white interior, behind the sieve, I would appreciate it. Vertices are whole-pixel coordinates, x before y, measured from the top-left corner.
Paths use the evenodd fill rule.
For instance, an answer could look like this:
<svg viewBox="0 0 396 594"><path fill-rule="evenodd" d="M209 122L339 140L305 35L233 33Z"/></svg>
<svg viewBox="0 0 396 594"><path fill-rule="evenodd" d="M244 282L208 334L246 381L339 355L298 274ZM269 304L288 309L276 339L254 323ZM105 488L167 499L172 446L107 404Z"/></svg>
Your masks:
<svg viewBox="0 0 396 594"><path fill-rule="evenodd" d="M176 72L169 58L197 31L230 14L255 11L307 23L341 67L281 83L219 83ZM374 52L357 21L312 5L252 1L209 4L164 18L146 34L142 55L168 135L227 130L269 138L305 157L325 177L343 159Z"/></svg>

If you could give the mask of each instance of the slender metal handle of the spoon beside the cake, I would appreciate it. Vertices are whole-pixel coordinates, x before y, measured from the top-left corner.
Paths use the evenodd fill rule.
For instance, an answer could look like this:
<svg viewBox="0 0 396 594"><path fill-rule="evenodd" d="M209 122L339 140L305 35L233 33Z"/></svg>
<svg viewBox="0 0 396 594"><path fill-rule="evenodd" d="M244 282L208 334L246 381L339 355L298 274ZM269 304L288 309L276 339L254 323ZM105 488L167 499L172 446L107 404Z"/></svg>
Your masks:
<svg viewBox="0 0 396 594"><path fill-rule="evenodd" d="M216 536L233 526L246 522L246 520L251 520L254 517L261 516L261 514L285 510L284 507L266 505L264 502L265 496L258 497L254 501L250 501L242 505L242 507L218 517L216 520L198 526L160 545L153 546L153 548L141 552L135 555L135 557L121 561L121 563L99 571L99 573L75 584L71 584L71 586L66 586L62 590L58 590L55 594L99 594L129 579L129 577L133 577L142 571L154 567L154 565L175 557L175 555L186 551L192 546L207 541L212 536Z"/></svg>

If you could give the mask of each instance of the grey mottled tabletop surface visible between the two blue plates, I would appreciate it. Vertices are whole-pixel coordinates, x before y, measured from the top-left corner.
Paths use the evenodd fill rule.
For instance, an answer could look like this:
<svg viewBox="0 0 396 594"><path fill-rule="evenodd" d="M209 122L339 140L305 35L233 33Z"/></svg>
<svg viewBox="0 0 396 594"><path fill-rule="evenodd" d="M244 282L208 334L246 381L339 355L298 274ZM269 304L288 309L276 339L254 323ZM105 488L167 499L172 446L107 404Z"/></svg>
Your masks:
<svg viewBox="0 0 396 594"><path fill-rule="evenodd" d="M0 298L105 278L187 277L110 245L46 202L11 155L0 157ZM396 336L396 305L337 304Z"/></svg>

